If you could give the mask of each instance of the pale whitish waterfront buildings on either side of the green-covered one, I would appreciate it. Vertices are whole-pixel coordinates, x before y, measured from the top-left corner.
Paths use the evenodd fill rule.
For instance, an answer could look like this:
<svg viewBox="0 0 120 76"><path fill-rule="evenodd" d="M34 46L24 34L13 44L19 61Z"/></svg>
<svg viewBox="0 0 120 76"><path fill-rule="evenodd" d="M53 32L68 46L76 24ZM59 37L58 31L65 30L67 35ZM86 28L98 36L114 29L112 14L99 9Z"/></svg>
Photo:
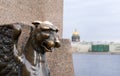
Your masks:
<svg viewBox="0 0 120 76"><path fill-rule="evenodd" d="M92 45L109 45L108 52L120 53L120 43L116 42L72 42L71 46L75 52L91 52Z"/></svg>

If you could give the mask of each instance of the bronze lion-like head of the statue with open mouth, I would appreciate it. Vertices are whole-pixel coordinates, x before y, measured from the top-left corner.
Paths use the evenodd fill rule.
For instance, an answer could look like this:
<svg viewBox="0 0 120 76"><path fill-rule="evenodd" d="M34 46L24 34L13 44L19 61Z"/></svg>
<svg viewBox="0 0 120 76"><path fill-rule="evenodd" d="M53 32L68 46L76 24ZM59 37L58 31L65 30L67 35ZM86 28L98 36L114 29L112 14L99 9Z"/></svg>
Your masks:
<svg viewBox="0 0 120 76"><path fill-rule="evenodd" d="M54 48L60 47L58 38L58 28L48 21L34 21L32 23L32 40L36 50L42 49L44 52L52 52Z"/></svg>

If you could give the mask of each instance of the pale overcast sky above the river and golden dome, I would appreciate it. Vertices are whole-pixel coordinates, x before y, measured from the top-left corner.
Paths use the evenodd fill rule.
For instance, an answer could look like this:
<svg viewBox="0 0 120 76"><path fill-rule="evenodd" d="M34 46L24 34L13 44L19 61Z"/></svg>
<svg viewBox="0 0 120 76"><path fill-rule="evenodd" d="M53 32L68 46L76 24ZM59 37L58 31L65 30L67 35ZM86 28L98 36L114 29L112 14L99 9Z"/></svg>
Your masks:
<svg viewBox="0 0 120 76"><path fill-rule="evenodd" d="M120 41L120 0L64 0L63 38Z"/></svg>

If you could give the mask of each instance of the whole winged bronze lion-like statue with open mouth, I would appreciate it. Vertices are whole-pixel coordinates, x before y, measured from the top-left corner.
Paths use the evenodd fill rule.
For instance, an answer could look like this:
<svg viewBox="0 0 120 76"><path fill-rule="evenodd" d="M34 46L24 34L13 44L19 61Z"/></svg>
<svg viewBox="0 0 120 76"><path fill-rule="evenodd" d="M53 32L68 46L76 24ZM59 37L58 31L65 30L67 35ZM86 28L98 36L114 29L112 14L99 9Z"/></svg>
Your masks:
<svg viewBox="0 0 120 76"><path fill-rule="evenodd" d="M14 24L15 26L8 26L12 34L7 34L11 37L8 38L8 41L11 39L11 45L9 45L11 50L7 50L7 52L12 54L9 53L10 55L7 55L8 53L4 53L6 50L3 50L3 48L7 48L8 46L6 43L3 43L4 40L0 41L0 45L2 46L2 50L0 49L0 76L50 76L45 53L52 52L54 48L60 47L57 35L58 29L48 21L34 21L32 24L33 26L30 26L30 37L24 49L21 50L22 54L19 54L17 50L17 41L21 33L18 25L21 24L17 23ZM6 30L8 30L8 27L6 27ZM6 35L1 37L4 39ZM12 58L10 59L11 56ZM8 57L7 62L5 62L6 57Z"/></svg>

